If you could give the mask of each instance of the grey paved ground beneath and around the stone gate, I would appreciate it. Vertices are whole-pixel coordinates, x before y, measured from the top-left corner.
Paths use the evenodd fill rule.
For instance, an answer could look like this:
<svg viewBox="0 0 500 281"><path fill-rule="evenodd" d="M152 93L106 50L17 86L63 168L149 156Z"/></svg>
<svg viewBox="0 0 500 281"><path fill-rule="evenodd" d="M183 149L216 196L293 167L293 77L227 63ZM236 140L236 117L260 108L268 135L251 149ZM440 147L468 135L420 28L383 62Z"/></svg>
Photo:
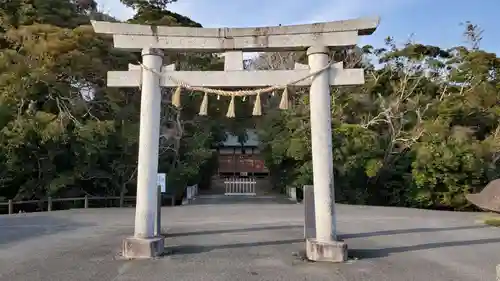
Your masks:
<svg viewBox="0 0 500 281"><path fill-rule="evenodd" d="M197 201L163 209L171 253L150 261L116 258L133 209L0 216L0 280L491 281L500 263L500 229L480 214L339 205L352 260L324 264L301 259L303 205Z"/></svg>

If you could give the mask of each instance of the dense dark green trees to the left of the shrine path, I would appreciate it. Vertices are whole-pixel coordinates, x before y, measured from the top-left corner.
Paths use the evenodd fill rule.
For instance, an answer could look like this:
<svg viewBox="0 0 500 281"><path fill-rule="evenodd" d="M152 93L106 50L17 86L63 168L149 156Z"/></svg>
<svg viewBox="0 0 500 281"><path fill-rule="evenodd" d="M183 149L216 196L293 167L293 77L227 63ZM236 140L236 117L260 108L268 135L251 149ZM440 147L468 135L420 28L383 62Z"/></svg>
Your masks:
<svg viewBox="0 0 500 281"><path fill-rule="evenodd" d="M200 26L159 1L136 3L130 22ZM93 32L90 19L116 21L96 6L91 0L0 4L0 201L135 194L140 92L108 88L105 78L140 57ZM198 54L165 57L170 62L181 62L181 69L223 65ZM159 169L169 174L170 187L182 189L210 177L211 145L224 138L224 123L217 108L210 108L211 118L196 115L199 94L184 95L182 111L169 105L169 91L163 97Z"/></svg>

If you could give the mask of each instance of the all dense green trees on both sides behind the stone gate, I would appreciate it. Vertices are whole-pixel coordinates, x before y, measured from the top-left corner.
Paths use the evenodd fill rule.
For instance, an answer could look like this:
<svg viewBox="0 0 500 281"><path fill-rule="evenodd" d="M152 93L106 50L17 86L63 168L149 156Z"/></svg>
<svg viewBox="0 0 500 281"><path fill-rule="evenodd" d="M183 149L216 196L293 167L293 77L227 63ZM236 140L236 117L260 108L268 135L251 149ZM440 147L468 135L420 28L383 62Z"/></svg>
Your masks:
<svg viewBox="0 0 500 281"><path fill-rule="evenodd" d="M131 23L200 26L167 10L172 0L122 0L136 10ZM106 72L127 69L138 54L112 48L90 19L116 21L93 0L9 0L0 3L0 201L47 196L135 193L138 89L106 87ZM441 49L409 42L333 54L346 67L364 67L366 84L332 89L336 198L355 204L466 209L465 195L498 177L500 59L480 49L481 32L467 23L468 46ZM249 67L291 68L303 53L269 53ZM223 67L218 56L165 57L179 69ZM307 89L293 110L264 99L250 118L251 100L228 101L196 113L200 93L183 95L181 111L163 93L160 170L169 186L207 181L215 169L211 146L224 131L244 138L256 127L277 187L312 183Z"/></svg>

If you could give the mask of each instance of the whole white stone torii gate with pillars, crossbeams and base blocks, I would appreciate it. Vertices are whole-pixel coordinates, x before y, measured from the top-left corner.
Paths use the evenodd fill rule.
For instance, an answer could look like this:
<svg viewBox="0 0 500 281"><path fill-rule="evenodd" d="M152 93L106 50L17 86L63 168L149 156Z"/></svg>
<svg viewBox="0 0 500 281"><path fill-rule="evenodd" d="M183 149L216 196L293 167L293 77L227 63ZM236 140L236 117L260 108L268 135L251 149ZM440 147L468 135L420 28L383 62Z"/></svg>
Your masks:
<svg viewBox="0 0 500 281"><path fill-rule="evenodd" d="M154 231L157 210L161 87L249 88L272 85L310 87L311 139L316 237L308 238L307 256L344 261L347 246L337 240L333 192L330 86L364 83L363 69L329 62L329 48L348 48L370 35L378 18L256 28L192 28L93 21L96 33L111 34L114 47L142 51L142 64L108 72L110 87L141 87L141 118L134 236L123 241L123 255L148 258L162 254L164 239ZM163 65L163 52L225 52L225 71L175 71ZM243 52L307 50L308 66L294 70L243 70ZM260 93L259 93L260 94ZM234 98L234 96L232 97ZM285 98L284 98L285 99Z"/></svg>

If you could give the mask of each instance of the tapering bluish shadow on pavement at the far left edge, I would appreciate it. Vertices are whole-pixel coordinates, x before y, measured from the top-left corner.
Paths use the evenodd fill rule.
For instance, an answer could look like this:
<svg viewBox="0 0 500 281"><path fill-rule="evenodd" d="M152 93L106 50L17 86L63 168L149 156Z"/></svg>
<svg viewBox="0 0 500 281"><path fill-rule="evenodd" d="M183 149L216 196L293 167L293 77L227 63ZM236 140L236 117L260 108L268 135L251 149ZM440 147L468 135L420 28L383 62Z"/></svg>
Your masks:
<svg viewBox="0 0 500 281"><path fill-rule="evenodd" d="M4 215L0 216L0 247L12 242L88 226L91 224L77 223L70 219L50 215Z"/></svg>

